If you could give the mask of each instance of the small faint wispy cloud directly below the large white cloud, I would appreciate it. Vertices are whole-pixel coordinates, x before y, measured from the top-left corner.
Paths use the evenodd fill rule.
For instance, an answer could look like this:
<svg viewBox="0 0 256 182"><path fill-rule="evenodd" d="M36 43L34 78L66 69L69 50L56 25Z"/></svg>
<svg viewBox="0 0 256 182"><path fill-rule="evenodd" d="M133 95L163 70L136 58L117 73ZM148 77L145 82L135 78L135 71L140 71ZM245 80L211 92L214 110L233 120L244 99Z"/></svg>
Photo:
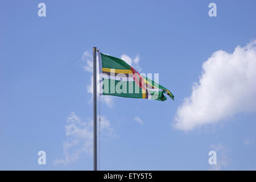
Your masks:
<svg viewBox="0 0 256 182"><path fill-rule="evenodd" d="M228 158L228 149L222 144L210 144L210 150L214 150L217 154L217 164L213 164L210 167L212 171L220 171L225 169L230 164L230 159Z"/></svg>

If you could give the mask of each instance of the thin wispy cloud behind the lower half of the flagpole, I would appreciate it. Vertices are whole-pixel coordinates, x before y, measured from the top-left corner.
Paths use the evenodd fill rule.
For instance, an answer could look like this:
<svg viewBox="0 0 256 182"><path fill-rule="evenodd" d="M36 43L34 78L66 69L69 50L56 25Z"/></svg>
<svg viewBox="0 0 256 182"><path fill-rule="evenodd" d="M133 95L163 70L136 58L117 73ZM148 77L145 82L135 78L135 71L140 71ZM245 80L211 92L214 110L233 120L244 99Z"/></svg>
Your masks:
<svg viewBox="0 0 256 182"><path fill-rule="evenodd" d="M93 152L93 121L82 121L74 112L67 118L65 125L66 140L63 143L64 159L56 159L54 164L69 164L76 162L81 154L92 155ZM110 122L101 116L101 135L112 137L113 129Z"/></svg>

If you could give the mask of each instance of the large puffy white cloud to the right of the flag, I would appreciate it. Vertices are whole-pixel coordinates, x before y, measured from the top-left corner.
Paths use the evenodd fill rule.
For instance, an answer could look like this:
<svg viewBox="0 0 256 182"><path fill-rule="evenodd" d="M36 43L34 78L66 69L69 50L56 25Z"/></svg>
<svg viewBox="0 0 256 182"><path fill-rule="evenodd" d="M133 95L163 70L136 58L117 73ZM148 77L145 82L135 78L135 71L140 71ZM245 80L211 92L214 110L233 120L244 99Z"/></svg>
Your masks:
<svg viewBox="0 0 256 182"><path fill-rule="evenodd" d="M174 126L188 131L256 110L256 40L233 53L216 51L203 63L199 82L192 86L175 116Z"/></svg>

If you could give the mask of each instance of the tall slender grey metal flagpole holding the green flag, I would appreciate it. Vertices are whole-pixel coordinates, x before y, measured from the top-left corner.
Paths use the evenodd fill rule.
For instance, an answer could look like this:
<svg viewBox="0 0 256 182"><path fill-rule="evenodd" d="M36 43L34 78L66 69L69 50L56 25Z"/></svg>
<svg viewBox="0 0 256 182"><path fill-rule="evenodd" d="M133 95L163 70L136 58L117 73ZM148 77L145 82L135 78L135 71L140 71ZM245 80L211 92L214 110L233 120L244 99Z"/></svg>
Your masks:
<svg viewBox="0 0 256 182"><path fill-rule="evenodd" d="M97 48L93 47L93 171L97 171Z"/></svg>

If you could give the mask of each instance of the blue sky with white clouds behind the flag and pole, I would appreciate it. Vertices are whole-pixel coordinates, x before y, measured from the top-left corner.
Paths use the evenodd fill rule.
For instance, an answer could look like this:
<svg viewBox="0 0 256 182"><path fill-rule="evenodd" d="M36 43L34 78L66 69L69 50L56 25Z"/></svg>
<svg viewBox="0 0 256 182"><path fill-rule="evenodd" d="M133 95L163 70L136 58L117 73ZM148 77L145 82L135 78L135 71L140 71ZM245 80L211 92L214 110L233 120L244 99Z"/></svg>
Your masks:
<svg viewBox="0 0 256 182"><path fill-rule="evenodd" d="M46 3L46 17L38 16L40 2ZM217 17L208 15L211 2L217 5ZM101 98L105 127L100 169L255 170L256 89L251 82L256 68L255 5L255 1L2 1L0 169L93 169L88 64L96 46L115 57L139 57L141 72L159 73L159 83L175 96L175 101L165 102ZM241 48L233 53L238 45ZM226 53L212 56L218 50ZM192 98L192 85L200 81L208 59L212 61L204 70L205 84L195 89L200 97ZM241 75L233 71L240 65L247 65L238 70ZM222 84L216 84L213 73L225 71L223 80L219 78ZM222 90L220 98L234 99L216 103L211 86ZM243 96L234 94L236 88L244 88ZM204 89L207 96L200 94ZM190 104L178 114L186 97L191 97ZM208 105L201 115L186 113L201 110L202 103ZM217 108L216 113L209 105ZM180 127L175 125L177 116ZM71 126L78 133L68 134ZM38 164L41 150L46 151L46 165ZM211 150L217 152L217 166L208 163Z"/></svg>

